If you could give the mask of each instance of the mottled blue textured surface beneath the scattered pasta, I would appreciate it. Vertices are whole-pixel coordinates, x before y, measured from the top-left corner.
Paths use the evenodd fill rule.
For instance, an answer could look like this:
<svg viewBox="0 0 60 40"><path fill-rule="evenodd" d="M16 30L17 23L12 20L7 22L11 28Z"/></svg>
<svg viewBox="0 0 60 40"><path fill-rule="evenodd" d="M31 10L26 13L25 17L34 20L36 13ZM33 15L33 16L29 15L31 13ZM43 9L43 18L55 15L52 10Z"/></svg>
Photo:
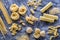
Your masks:
<svg viewBox="0 0 60 40"><path fill-rule="evenodd" d="M24 5L27 4L27 0L2 0L2 1L3 1L4 5L5 5L6 9L8 10L9 15L11 15L11 12L10 12L10 10L9 10L9 7L10 7L11 4L16 3L18 6L20 6L21 4L24 4ZM53 8L53 7L58 7L58 8L60 8L60 0L42 0L42 5L37 8L37 11L35 11L35 15L34 15L34 16L36 16L36 17L39 18L40 15L42 15L42 13L40 12L40 9L41 9L42 7L44 7L44 6L45 6L48 2L50 2L50 1L53 2L53 6L52 6L51 8ZM29 15L29 14L30 14L29 9L30 9L31 7L28 7L27 5L26 5L26 7L27 7L27 9L28 9L26 15ZM50 8L50 9L51 9L51 8ZM48 11L46 11L46 13L48 13ZM4 38L4 39L5 39L5 40L16 40L16 37L17 37L17 36L25 33L26 27L32 27L33 30L34 30L34 28L38 27L38 28L40 28L41 30L45 30L45 31L46 31L46 37L45 37L45 38L35 39L35 38L32 36L32 34L33 34L33 33L32 33L32 34L29 35L30 40L49 40L50 35L47 35L48 26L50 26L50 25L53 25L53 26L60 25L60 14L57 14L57 15L59 16L59 20L58 20L58 21L55 21L55 23L53 23L53 24L46 23L46 22L41 22L41 21L37 21L37 22L35 22L34 25L30 25L30 24L26 23L25 17L21 17L21 19L23 19L23 20L25 21L26 26L22 26L22 30L19 31L16 36L12 36L11 33L10 33L10 31L8 30L8 28L9 28L11 25L8 25L8 24L7 24L5 18L4 18L4 16L3 16L3 14L2 14L2 12L0 11L0 16L2 17L4 23L5 23L6 27L7 27L7 30L8 30L8 33L7 33L7 35L5 35L5 38ZM18 21L19 21L19 20L18 20ZM18 21L14 21L14 23L18 23ZM18 24L19 24L19 23L18 23ZM0 33L0 40L4 40L4 39L3 39L2 34ZM57 37L57 38L55 38L54 40L60 40L60 37Z"/></svg>

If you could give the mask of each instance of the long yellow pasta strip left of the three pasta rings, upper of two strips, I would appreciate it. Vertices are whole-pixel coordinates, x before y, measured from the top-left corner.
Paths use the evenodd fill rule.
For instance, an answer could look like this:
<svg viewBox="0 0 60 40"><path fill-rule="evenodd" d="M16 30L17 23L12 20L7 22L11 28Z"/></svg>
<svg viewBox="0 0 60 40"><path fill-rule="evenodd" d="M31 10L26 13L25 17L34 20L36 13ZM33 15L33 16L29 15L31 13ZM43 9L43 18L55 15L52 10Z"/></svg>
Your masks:
<svg viewBox="0 0 60 40"><path fill-rule="evenodd" d="M12 20L10 19L9 15L8 15L8 12L7 12L6 8L4 7L4 4L1 1L0 1L0 9L2 10L3 15L4 15L7 23L11 24Z"/></svg>

